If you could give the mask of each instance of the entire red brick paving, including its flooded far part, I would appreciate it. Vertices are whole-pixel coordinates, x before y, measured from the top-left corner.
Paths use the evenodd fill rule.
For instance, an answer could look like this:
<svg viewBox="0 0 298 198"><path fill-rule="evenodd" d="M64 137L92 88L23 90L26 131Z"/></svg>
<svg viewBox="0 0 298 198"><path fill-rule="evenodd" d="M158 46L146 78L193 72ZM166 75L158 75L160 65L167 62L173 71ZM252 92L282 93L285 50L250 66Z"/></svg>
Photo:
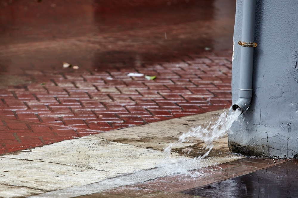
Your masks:
<svg viewBox="0 0 298 198"><path fill-rule="evenodd" d="M234 1L119 2L0 2L0 154L231 105Z"/></svg>

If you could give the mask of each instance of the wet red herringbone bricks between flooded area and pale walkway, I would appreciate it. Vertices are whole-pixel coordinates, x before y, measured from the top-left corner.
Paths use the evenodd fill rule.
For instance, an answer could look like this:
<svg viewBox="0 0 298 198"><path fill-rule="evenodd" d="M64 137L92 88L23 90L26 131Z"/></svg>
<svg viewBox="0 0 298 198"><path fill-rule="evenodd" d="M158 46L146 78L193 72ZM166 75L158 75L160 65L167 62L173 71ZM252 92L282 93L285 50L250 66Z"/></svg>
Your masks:
<svg viewBox="0 0 298 198"><path fill-rule="evenodd" d="M123 70L23 72L34 82L0 90L1 153L231 105L229 55ZM139 72L157 78L127 76Z"/></svg>

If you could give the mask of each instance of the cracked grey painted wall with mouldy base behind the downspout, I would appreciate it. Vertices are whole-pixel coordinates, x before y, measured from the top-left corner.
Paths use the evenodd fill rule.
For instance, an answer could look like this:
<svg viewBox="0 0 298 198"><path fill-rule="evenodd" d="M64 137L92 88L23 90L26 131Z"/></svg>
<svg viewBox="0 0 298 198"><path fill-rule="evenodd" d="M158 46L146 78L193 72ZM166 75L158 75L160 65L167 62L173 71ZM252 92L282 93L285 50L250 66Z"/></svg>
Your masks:
<svg viewBox="0 0 298 198"><path fill-rule="evenodd" d="M244 0L249 1L249 0ZM237 0L232 64L232 102L238 100L242 3ZM257 0L253 97L234 122L229 147L235 153L298 156L298 1Z"/></svg>

